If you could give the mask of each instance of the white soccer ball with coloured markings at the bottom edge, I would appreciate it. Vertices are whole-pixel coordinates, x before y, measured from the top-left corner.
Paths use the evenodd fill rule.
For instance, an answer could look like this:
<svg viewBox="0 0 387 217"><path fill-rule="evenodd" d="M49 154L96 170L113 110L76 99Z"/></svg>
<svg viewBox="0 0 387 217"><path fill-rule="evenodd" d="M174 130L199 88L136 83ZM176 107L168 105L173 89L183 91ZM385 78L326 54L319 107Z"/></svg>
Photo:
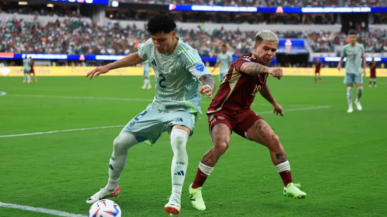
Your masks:
<svg viewBox="0 0 387 217"><path fill-rule="evenodd" d="M89 209L88 217L121 217L121 209L111 200L98 200Z"/></svg>

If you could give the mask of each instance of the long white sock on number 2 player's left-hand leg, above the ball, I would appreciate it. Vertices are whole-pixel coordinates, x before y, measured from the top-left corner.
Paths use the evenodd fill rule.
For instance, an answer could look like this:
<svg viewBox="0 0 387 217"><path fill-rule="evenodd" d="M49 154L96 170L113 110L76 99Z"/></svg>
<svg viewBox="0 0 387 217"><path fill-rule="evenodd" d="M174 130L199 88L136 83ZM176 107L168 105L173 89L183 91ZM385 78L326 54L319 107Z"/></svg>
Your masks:
<svg viewBox="0 0 387 217"><path fill-rule="evenodd" d="M107 191L113 191L118 187L121 172L128 158L128 150L137 143L139 142L134 135L124 132L114 139L113 154L109 161L109 179L105 187Z"/></svg>

